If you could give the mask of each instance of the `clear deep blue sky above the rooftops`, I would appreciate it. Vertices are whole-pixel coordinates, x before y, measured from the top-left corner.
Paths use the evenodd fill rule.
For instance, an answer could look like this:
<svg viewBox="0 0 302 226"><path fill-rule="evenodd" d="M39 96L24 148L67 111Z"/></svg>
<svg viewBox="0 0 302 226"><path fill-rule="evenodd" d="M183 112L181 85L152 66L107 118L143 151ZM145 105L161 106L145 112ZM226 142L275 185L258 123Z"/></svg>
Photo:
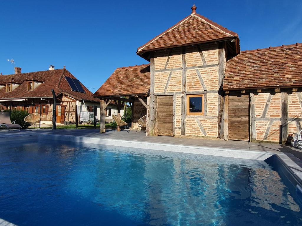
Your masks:
<svg viewBox="0 0 302 226"><path fill-rule="evenodd" d="M116 67L147 63L137 47L197 13L239 34L241 50L302 42L302 1L5 1L0 0L0 71L66 65L98 88ZM95 89L90 89L93 93Z"/></svg>

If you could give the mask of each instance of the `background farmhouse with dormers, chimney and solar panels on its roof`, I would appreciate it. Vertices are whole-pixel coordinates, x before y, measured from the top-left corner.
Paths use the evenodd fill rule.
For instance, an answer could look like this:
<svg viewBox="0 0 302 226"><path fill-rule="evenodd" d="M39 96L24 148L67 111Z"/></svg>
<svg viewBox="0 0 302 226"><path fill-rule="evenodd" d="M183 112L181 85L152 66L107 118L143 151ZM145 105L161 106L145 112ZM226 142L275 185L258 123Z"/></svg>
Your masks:
<svg viewBox="0 0 302 226"><path fill-rule="evenodd" d="M25 109L29 113L41 115L41 125L52 121L54 89L57 98L56 123L76 122L76 111L90 112L93 106L99 106L99 99L76 79L65 67L54 69L50 65L47 71L21 73L15 67L15 73L0 76L0 110ZM109 108L115 109L111 103ZM81 120L79 115L78 121ZM87 121L87 120L86 120Z"/></svg>

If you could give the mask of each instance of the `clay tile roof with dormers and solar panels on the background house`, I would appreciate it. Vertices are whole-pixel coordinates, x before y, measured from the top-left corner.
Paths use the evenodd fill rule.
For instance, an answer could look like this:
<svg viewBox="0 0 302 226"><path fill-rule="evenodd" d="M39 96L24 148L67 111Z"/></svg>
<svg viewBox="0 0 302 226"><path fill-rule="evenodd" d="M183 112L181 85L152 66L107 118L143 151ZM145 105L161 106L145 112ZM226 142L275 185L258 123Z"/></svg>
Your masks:
<svg viewBox="0 0 302 226"><path fill-rule="evenodd" d="M14 88L11 92L6 93L5 87L0 88L0 99L21 99L21 98L47 98L52 97L51 89L54 89L56 95L60 93L65 93L76 99L84 99L89 101L98 102L99 100L94 98L92 93L81 83L83 89L86 93L79 93L72 91L67 83L65 76L75 78L66 69L56 69L47 71L36 71L21 74L10 74L0 76L0 84L8 83L13 81L13 83L20 84L18 87ZM34 90L27 91L27 81L35 80L43 82Z"/></svg>

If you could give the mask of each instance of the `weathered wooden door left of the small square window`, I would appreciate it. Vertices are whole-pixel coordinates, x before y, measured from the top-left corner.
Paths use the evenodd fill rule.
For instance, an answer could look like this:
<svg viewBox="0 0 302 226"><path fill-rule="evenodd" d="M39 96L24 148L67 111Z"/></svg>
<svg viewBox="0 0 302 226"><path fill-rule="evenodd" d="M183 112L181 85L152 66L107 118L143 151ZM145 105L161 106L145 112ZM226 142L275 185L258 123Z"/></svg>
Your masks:
<svg viewBox="0 0 302 226"><path fill-rule="evenodd" d="M158 135L173 136L173 96L158 96L157 98Z"/></svg>

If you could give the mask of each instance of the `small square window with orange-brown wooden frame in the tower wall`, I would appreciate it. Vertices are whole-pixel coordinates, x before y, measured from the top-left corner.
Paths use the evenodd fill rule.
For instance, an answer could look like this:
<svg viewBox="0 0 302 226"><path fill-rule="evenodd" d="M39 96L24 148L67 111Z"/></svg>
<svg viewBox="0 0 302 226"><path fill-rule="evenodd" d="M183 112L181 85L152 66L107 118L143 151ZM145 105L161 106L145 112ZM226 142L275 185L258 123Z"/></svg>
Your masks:
<svg viewBox="0 0 302 226"><path fill-rule="evenodd" d="M204 115L204 95L187 95L187 115Z"/></svg>

